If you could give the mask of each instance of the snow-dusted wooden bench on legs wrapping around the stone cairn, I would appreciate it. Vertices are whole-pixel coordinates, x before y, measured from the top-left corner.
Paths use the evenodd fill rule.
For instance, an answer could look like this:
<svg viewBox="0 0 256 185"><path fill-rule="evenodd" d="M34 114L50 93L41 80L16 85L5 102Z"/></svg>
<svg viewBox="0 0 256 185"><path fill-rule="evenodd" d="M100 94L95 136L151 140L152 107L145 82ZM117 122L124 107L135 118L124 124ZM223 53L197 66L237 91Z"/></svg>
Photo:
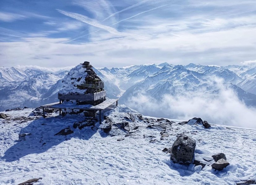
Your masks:
<svg viewBox="0 0 256 185"><path fill-rule="evenodd" d="M84 110L84 111L99 111L100 113L100 123L101 123L101 111L103 111L104 109L108 108L110 105L112 105L113 103L116 103L117 106L117 101L119 99L106 99L104 102L98 104L98 105L73 105L73 104L61 104L60 102L56 102L56 103L51 103L51 104L46 104L46 105L42 105L40 106L41 108L43 108L43 115L45 117L45 108L55 108L55 109L59 109L60 111L60 115L61 115L61 109L79 109L79 110Z"/></svg>

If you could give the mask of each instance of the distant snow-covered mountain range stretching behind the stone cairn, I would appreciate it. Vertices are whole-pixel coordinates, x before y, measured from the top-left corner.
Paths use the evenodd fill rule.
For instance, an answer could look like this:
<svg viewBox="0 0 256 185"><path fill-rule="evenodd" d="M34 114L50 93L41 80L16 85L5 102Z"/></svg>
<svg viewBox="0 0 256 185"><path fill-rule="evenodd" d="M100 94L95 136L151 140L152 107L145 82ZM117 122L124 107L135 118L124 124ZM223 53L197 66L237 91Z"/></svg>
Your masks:
<svg viewBox="0 0 256 185"><path fill-rule="evenodd" d="M247 106L256 107L256 67L193 63L182 66L165 62L158 65L93 69L105 83L107 96L120 98L120 103L131 108L136 106L130 104L130 100L139 94L156 101L163 99L164 95L177 96L187 92L204 92L215 97L222 88L232 89ZM57 94L67 73L63 71L53 74L35 69L23 71L15 67L1 67L0 111L24 106L38 107L58 101Z"/></svg>

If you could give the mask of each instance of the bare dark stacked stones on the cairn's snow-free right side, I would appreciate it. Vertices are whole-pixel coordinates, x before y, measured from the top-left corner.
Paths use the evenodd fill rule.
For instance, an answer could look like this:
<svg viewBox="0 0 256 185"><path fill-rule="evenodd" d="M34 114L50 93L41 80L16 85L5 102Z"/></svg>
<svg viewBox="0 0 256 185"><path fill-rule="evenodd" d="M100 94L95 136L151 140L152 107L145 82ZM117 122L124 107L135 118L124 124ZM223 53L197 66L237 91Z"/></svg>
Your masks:
<svg viewBox="0 0 256 185"><path fill-rule="evenodd" d="M85 94L88 93L96 93L104 90L104 82L100 80L100 78L96 75L96 73L92 69L92 65L90 62L85 61L81 64L83 68L85 68L85 72L87 76L85 77L85 83L81 83L76 87L78 89L86 89ZM80 81L82 77L78 78L77 81Z"/></svg>

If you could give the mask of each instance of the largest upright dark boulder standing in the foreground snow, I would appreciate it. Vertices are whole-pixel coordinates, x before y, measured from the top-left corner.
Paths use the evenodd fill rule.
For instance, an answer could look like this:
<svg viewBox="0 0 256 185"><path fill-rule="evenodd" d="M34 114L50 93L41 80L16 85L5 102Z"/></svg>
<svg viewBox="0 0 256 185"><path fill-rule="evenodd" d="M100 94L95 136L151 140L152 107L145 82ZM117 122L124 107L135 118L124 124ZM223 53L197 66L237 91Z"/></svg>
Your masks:
<svg viewBox="0 0 256 185"><path fill-rule="evenodd" d="M178 135L171 150L171 159L180 164L192 163L196 142L193 138Z"/></svg>

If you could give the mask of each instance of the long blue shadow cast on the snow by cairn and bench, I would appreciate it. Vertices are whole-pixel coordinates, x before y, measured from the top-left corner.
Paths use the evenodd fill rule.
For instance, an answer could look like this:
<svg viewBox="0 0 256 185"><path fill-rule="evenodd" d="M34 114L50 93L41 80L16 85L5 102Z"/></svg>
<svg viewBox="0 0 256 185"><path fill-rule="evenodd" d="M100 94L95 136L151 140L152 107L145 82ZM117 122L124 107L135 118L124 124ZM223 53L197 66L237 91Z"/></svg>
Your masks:
<svg viewBox="0 0 256 185"><path fill-rule="evenodd" d="M20 130L20 134L31 134L25 136L23 141L16 140L15 145L7 149L1 159L6 162L13 162L29 154L43 153L72 138L89 140L99 129L99 122L96 122L94 126L87 126L81 130L73 128L74 122L82 120L85 120L85 117L79 115L65 115L34 120ZM70 127L74 133L66 136L55 135L67 127Z"/></svg>

